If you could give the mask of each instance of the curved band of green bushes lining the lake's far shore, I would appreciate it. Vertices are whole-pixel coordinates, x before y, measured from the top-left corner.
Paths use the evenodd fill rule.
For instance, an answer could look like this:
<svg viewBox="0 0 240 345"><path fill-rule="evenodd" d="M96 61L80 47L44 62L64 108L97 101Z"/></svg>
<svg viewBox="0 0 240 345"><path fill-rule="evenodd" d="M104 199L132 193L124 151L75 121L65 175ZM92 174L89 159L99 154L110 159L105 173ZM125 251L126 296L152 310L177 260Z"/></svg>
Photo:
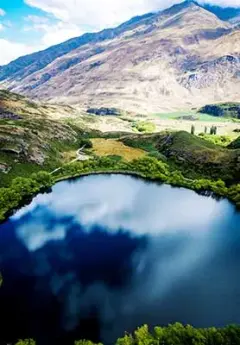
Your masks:
<svg viewBox="0 0 240 345"><path fill-rule="evenodd" d="M240 184L227 187L221 179L189 179L181 171L154 157L143 157L132 161L120 160L119 156L95 157L88 161L66 164L53 177L47 172L32 174L29 178L18 177L8 188L0 188L0 220L3 221L14 209L29 200L41 190L48 189L53 183L75 176L92 173L122 172L139 175L146 179L159 180L173 186L182 186L199 192L212 191L226 196L240 207Z"/></svg>

